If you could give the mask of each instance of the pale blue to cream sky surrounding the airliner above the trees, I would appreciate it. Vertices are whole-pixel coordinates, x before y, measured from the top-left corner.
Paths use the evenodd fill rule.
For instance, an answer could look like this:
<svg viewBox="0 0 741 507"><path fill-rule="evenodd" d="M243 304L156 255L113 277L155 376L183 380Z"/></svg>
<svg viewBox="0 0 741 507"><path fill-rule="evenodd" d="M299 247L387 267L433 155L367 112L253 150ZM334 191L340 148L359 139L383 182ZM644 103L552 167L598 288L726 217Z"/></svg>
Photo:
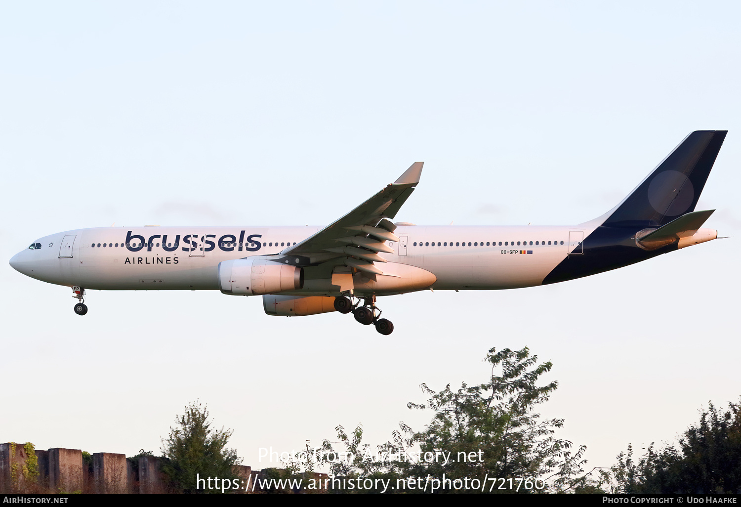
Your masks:
<svg viewBox="0 0 741 507"><path fill-rule="evenodd" d="M0 441L159 453L196 399L245 465L362 423L373 445L528 345L558 436L610 466L741 394L737 2L4 2ZM728 130L698 210L717 240L571 282L269 317L259 296L88 291L10 268L41 236L122 225L327 225L415 161L396 216L573 225L692 130Z"/></svg>

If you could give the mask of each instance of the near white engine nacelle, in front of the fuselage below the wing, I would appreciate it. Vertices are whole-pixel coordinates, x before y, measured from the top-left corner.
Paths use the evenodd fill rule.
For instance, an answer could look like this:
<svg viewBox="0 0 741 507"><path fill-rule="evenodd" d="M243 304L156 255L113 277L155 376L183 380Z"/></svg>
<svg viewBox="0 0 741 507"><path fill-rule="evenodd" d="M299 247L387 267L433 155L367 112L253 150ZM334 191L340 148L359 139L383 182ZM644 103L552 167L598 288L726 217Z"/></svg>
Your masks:
<svg viewBox="0 0 741 507"><path fill-rule="evenodd" d="M219 262L219 289L231 296L296 291L304 286L302 268L266 259Z"/></svg>

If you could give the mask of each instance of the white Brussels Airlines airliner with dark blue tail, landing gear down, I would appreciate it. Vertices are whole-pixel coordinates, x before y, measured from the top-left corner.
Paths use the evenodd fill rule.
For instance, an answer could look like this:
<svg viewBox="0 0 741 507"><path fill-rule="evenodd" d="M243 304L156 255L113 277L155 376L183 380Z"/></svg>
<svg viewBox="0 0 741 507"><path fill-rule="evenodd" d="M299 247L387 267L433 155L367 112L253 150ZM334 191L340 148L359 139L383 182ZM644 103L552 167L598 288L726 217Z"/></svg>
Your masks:
<svg viewBox="0 0 741 507"><path fill-rule="evenodd" d="M392 222L419 183L422 162L325 228L87 228L33 241L17 271L85 291L222 291L262 296L265 313L337 311L388 335L377 296L413 291L532 287L621 268L716 239L695 211L725 130L697 130L617 206L579 225L420 226Z"/></svg>

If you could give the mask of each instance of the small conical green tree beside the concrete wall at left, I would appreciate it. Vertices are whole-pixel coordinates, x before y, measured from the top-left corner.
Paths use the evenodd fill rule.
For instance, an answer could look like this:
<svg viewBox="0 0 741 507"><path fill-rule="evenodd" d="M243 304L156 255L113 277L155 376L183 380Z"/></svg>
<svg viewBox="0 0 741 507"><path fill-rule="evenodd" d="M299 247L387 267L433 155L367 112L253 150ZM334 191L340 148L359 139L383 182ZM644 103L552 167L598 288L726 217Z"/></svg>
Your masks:
<svg viewBox="0 0 741 507"><path fill-rule="evenodd" d="M196 483L196 474L205 480L238 478L233 465L239 465L241 460L235 449L227 448L232 430L211 428L208 415L206 406L191 402L185 407L185 414L176 416L176 426L170 427L167 440L162 440L162 453L168 459L162 471L185 493L222 492L221 488L205 486L208 483Z"/></svg>

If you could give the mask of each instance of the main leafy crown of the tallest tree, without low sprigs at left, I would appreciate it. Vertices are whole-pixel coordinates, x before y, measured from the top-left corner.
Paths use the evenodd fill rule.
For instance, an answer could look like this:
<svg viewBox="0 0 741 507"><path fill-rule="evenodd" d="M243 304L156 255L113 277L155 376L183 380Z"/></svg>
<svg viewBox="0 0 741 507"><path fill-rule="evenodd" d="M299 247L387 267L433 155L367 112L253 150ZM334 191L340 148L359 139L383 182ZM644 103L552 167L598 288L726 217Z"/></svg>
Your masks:
<svg viewBox="0 0 741 507"><path fill-rule="evenodd" d="M548 477L562 484L582 471L580 458L585 448L572 454L571 442L554 437L562 419L540 420L533 412L536 405L548 400L557 383L537 385L539 377L551 370L551 362L537 364L528 348L496 352L492 348L485 362L491 364L491 379L482 385L463 384L457 391L450 385L430 395L426 405L410 403L410 408L434 411L425 431L415 434L411 443L419 442L422 452L451 451L456 459L443 465L433 463L413 467L412 472L455 477ZM497 374L501 369L501 373ZM478 454L477 454L478 453ZM475 456L475 457L474 457Z"/></svg>

